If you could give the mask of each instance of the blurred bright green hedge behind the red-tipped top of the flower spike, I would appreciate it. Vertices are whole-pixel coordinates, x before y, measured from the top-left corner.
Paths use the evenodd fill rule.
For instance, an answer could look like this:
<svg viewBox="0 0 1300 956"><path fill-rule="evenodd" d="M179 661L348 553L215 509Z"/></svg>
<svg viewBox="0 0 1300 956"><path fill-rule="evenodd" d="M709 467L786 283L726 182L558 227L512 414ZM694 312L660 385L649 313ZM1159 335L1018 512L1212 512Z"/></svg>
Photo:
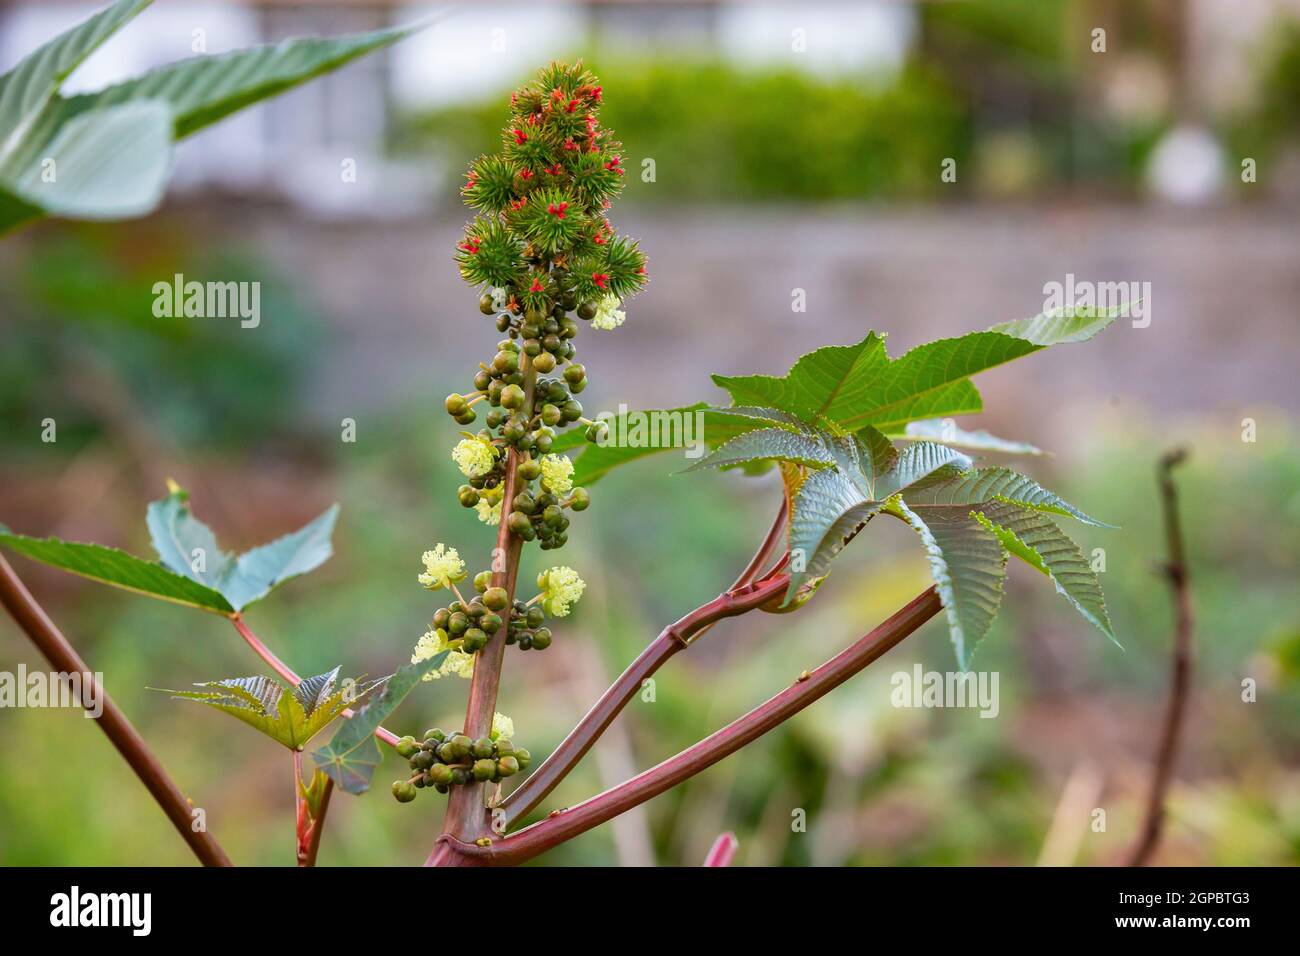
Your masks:
<svg viewBox="0 0 1300 956"><path fill-rule="evenodd" d="M880 87L711 61L589 65L608 94L601 121L632 147L628 199L926 196L941 186L940 160L968 147L958 99L924 69ZM434 148L459 168L499 148L503 103L411 117L396 146ZM654 183L642 181L642 157L654 160Z"/></svg>

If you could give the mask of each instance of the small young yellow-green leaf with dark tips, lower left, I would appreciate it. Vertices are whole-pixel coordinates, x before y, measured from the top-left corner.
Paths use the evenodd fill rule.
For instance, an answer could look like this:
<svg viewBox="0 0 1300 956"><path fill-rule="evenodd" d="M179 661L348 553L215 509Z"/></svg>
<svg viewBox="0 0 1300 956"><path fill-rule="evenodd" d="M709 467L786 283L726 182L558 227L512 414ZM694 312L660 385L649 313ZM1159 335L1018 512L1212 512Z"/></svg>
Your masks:
<svg viewBox="0 0 1300 956"><path fill-rule="evenodd" d="M338 685L335 667L307 678L286 692L266 676L226 678L195 687L202 691L164 691L177 700L191 700L243 721L254 730L291 750L302 750L335 717L356 704L382 682L344 682ZM157 688L155 688L157 689Z"/></svg>

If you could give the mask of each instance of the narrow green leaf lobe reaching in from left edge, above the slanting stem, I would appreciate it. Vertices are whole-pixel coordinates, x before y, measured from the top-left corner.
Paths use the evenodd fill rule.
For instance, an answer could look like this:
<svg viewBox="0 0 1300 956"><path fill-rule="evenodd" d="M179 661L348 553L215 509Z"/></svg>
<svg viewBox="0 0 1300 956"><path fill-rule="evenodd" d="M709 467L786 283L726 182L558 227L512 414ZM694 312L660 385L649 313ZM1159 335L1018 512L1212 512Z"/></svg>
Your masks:
<svg viewBox="0 0 1300 956"><path fill-rule="evenodd" d="M27 537L14 535L3 527L0 527L0 545L52 567L112 584L114 588L199 607L213 614L234 611L220 592L116 548L60 541L56 537Z"/></svg>

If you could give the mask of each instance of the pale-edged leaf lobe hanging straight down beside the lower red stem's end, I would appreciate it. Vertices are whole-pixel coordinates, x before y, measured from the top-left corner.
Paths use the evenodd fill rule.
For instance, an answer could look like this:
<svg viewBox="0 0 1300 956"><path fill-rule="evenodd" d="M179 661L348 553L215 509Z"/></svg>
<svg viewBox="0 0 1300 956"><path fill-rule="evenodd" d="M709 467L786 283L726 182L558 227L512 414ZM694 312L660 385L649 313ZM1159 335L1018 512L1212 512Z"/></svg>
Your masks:
<svg viewBox="0 0 1300 956"><path fill-rule="evenodd" d="M975 645L988 633L1002 602L1006 551L997 536L957 509L909 509L894 498L890 510L920 536L930 576L944 604L957 663L970 670Z"/></svg>

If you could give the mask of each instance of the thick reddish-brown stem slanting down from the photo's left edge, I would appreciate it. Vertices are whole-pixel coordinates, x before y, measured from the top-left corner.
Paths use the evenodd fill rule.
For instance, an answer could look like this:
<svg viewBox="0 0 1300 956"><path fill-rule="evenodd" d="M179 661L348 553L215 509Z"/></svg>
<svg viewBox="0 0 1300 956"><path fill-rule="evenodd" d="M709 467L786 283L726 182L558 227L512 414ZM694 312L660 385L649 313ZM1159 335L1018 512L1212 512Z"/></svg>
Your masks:
<svg viewBox="0 0 1300 956"><path fill-rule="evenodd" d="M113 702L113 698L103 687L94 685L90 667L31 596L31 592L27 591L4 557L0 557L0 602L51 665L64 674L81 674L83 680L91 682L90 685L98 691L98 698L104 705L103 714L96 718L99 728L104 731L122 758L131 765L131 770L140 778L140 783L159 803L168 819L172 821L172 826L181 834L199 861L204 866L230 866L230 858L212 834L207 830L195 831L192 808L185 793L168 777L166 770L162 769L157 757L150 750L131 722L126 719L126 714ZM84 687L83 684L83 693L87 693Z"/></svg>

